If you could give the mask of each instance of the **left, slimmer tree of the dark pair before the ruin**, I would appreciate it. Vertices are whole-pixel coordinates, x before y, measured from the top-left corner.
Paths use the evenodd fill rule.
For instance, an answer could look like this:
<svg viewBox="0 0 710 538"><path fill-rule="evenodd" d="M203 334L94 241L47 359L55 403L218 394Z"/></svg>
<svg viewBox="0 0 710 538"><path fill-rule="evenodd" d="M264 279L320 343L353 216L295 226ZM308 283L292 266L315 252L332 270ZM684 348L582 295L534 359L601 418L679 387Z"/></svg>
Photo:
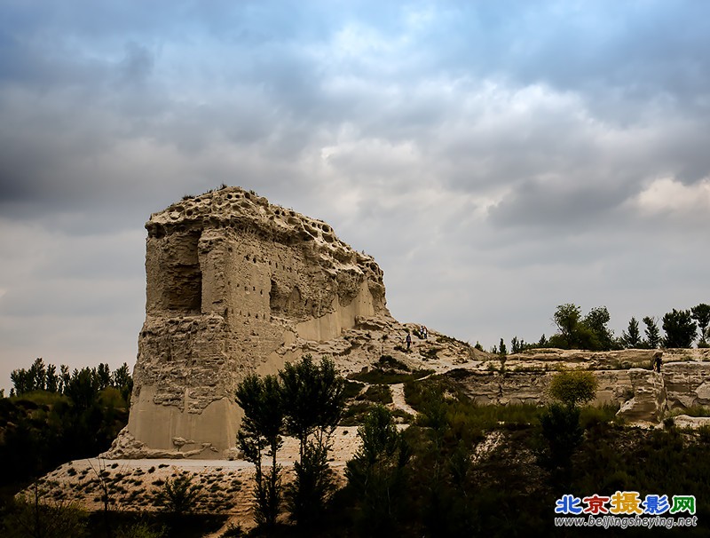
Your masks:
<svg viewBox="0 0 710 538"><path fill-rule="evenodd" d="M251 374L237 387L235 400L244 410L237 443L245 459L256 467L256 523L274 526L281 503L281 467L276 453L283 444L282 388L277 376L263 379ZM272 458L272 468L262 471L262 453Z"/></svg>

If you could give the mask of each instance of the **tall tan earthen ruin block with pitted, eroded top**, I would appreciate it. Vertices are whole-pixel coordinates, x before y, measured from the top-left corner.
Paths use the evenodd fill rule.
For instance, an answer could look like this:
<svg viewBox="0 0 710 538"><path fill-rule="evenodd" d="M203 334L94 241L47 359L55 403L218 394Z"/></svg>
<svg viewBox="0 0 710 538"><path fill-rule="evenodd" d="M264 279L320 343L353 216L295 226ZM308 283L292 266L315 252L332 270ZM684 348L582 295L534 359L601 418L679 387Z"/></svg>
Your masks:
<svg viewBox="0 0 710 538"><path fill-rule="evenodd" d="M123 456L224 457L243 376L276 372L359 317L390 317L372 257L239 187L177 202L146 229L146 321Z"/></svg>

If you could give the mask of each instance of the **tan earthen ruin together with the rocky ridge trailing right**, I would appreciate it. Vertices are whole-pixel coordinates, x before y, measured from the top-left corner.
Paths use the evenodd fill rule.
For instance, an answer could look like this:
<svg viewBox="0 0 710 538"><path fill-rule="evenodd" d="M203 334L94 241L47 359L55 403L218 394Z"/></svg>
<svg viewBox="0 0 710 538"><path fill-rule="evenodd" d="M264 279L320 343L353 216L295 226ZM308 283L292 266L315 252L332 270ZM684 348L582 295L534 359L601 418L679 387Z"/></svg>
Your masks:
<svg viewBox="0 0 710 538"><path fill-rule="evenodd" d="M305 352L332 357L343 375L388 357L403 372L428 368L481 404L540 403L557 370L581 368L599 381L596 404L618 405L628 423L710 406L710 349L501 357L433 330L405 349L418 326L390 316L372 257L326 223L239 187L185 197L146 228L146 322L130 419L105 457L232 457L237 384ZM659 354L660 374L650 368ZM401 384L394 392L402 395ZM403 396L390 405L413 412Z"/></svg>

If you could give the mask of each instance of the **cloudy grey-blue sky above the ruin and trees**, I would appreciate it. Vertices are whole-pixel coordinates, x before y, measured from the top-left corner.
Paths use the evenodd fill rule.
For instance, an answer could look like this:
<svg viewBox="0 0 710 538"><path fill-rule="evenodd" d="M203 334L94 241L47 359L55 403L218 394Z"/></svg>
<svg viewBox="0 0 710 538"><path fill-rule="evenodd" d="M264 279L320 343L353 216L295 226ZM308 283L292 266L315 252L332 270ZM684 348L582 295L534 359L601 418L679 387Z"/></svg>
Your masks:
<svg viewBox="0 0 710 538"><path fill-rule="evenodd" d="M710 303L710 3L0 0L0 388L135 363L150 214L321 218L485 348ZM643 327L643 326L642 326Z"/></svg>

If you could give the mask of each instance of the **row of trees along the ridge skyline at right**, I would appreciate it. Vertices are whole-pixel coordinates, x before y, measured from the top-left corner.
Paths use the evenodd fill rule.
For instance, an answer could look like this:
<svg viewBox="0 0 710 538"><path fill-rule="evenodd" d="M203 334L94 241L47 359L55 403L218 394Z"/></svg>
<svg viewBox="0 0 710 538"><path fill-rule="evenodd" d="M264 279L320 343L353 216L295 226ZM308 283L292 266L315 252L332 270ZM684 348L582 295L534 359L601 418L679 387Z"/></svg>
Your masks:
<svg viewBox="0 0 710 538"><path fill-rule="evenodd" d="M590 351L609 351L625 348L656 349L658 347L690 348L698 340L698 347L708 347L710 338L710 305L700 303L687 310L675 308L658 320L652 316L642 318L643 335L638 320L632 317L628 327L619 337L609 328L611 316L606 306L592 308L582 316L580 306L573 303L558 305L552 320L557 332L549 338L544 334L537 343L529 344L514 336L510 352L517 353L526 349L556 347L560 349L584 349ZM663 335L659 328L663 328ZM501 338L491 352L505 355L508 348Z"/></svg>

